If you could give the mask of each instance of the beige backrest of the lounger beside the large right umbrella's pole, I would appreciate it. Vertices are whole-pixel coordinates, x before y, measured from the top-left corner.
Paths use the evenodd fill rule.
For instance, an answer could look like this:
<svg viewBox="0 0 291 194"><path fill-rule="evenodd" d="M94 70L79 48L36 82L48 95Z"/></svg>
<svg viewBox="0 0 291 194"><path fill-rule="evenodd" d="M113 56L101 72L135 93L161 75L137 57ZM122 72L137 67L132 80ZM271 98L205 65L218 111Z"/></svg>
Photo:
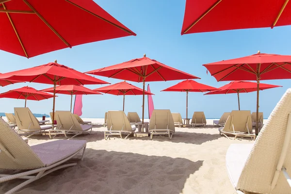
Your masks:
<svg viewBox="0 0 291 194"><path fill-rule="evenodd" d="M235 132L247 133L248 129L250 132L252 132L251 112L250 111L231 111L223 130L234 132L233 127L234 127Z"/></svg>

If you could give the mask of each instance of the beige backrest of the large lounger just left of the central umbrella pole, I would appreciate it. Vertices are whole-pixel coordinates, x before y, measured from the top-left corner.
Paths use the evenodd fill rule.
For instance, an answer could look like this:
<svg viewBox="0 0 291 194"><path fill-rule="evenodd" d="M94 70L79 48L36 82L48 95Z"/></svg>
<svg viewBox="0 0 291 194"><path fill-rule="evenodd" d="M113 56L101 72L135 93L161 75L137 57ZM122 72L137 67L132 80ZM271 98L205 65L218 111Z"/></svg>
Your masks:
<svg viewBox="0 0 291 194"><path fill-rule="evenodd" d="M118 131L132 131L129 119L123 111L108 111L107 129Z"/></svg>

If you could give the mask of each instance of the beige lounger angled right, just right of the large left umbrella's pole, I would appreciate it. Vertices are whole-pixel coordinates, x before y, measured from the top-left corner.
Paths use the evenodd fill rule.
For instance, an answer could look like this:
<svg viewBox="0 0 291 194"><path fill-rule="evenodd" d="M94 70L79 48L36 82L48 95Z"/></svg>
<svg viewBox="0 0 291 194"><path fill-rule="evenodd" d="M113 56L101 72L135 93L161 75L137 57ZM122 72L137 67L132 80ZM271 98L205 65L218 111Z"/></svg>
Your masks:
<svg viewBox="0 0 291 194"><path fill-rule="evenodd" d="M83 133L92 132L92 125L80 125L76 117L70 111L56 111L55 118L57 120L57 129L49 130L49 138L53 139L55 136L64 134L66 138L67 135L73 135L71 138L81 135ZM54 135L51 137L51 135Z"/></svg>

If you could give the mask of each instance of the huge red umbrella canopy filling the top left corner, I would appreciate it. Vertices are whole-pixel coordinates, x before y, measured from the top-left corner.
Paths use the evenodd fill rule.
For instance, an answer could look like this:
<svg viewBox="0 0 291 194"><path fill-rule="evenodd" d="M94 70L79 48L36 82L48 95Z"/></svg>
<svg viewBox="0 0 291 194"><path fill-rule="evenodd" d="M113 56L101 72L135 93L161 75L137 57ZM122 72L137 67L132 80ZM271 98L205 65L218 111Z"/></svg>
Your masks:
<svg viewBox="0 0 291 194"><path fill-rule="evenodd" d="M0 3L0 49L27 58L136 35L93 0L1 0Z"/></svg>

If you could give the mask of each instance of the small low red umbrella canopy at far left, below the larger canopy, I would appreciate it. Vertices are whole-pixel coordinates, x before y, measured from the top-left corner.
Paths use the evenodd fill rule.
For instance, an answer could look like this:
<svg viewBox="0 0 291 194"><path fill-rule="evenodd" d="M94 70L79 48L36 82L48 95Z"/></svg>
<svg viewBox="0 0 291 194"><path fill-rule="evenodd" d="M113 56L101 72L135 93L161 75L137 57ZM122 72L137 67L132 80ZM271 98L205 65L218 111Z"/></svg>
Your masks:
<svg viewBox="0 0 291 194"><path fill-rule="evenodd" d="M37 91L36 89L32 87L22 87L17 88L14 90L9 90L8 92L4 92L0 94L1 97L7 97L7 98L16 98L16 99L25 99L25 107L26 107L26 100L44 100L49 99L53 97L53 95Z"/></svg>

